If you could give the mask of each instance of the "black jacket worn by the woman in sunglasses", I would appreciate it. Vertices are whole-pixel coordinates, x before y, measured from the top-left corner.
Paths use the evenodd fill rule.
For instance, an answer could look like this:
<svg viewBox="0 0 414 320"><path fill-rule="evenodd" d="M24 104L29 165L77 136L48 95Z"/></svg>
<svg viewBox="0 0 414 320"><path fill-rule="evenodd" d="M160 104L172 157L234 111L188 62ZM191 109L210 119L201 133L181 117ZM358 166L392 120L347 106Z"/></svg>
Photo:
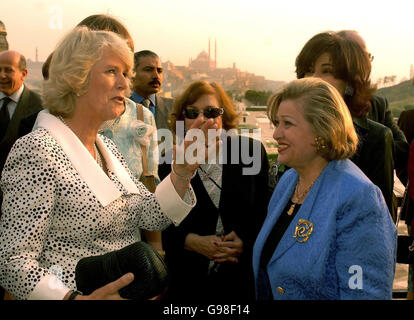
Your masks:
<svg viewBox="0 0 414 320"><path fill-rule="evenodd" d="M260 143L249 140L250 146ZM167 300L206 302L226 298L230 301L254 299L252 250L269 201L268 162L261 143L260 146L261 155L258 157L261 157L261 170L258 175L243 175L242 168L246 165L231 164L228 157L227 164L223 165L219 209L211 201L199 175L191 181L197 196L196 206L178 227L168 227L162 233L171 276ZM170 165L160 166L160 178L169 172ZM238 264L222 263L214 276L208 276L208 258L184 249L184 241L189 233L203 236L216 234L219 212L225 233L235 231L243 241L244 251Z"/></svg>

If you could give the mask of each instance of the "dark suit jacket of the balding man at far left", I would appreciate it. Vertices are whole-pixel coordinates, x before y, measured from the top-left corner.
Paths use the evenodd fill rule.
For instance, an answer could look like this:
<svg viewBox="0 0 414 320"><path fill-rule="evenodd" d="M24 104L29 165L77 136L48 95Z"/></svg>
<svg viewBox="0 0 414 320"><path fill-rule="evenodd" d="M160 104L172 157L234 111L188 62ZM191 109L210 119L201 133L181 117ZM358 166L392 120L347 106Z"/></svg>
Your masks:
<svg viewBox="0 0 414 320"><path fill-rule="evenodd" d="M13 144L18 138L22 136L20 132L24 132L24 134L26 134L32 129L30 128L30 130L27 132L25 132L25 130L22 130L22 121L24 122L26 118L37 115L37 113L42 109L42 100L40 99L40 96L25 86L19 103L16 106L16 111L14 112L9 126L7 127L7 131L3 139L0 141L0 171L3 170L7 155L9 154L9 151L12 148ZM34 120L36 120L36 116L34 116ZM34 121L31 123L32 127L33 124ZM26 123L26 125L30 124Z"/></svg>

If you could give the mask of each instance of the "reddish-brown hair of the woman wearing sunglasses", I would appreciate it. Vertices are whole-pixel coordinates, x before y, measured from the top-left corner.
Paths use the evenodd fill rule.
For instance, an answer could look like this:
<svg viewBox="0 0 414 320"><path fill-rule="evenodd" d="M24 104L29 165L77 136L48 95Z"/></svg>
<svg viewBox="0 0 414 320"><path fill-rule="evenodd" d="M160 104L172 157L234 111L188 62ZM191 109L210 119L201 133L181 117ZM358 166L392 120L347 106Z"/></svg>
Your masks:
<svg viewBox="0 0 414 320"><path fill-rule="evenodd" d="M176 133L176 121L184 120L183 110L196 102L201 96L212 94L217 98L219 106L224 108L223 129L237 128L239 115L234 110L233 104L226 92L217 82L196 81L174 101L173 112L170 116L171 130Z"/></svg>

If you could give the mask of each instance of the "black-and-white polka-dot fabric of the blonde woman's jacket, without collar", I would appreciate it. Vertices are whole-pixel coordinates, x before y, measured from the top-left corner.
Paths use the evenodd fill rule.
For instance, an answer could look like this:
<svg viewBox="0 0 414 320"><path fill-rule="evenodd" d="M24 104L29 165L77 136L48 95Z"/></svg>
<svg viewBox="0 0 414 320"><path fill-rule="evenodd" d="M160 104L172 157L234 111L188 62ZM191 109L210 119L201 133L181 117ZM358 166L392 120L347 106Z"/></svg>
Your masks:
<svg viewBox="0 0 414 320"><path fill-rule="evenodd" d="M122 196L103 207L56 140L40 128L13 146L2 172L0 285L27 299L42 277L58 276L76 289L75 267L87 256L121 249L139 239L137 228L162 230L171 220L144 185L133 178L114 143L101 136L136 183L126 189L109 171Z"/></svg>

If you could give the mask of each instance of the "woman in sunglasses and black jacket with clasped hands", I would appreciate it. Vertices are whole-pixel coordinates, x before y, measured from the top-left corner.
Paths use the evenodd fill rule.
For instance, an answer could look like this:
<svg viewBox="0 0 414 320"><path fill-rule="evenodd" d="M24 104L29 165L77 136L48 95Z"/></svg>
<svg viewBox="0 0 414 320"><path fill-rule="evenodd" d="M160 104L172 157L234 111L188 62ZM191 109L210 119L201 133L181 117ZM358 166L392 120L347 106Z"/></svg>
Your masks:
<svg viewBox="0 0 414 320"><path fill-rule="evenodd" d="M202 164L191 181L196 206L180 227L162 233L171 275L166 299L253 299L252 247L268 203L266 151L258 140L229 136L229 130L237 132L239 117L215 82L194 82L176 99L171 116L173 133L178 136L179 121L187 130L201 117L204 121L214 119L227 135L221 136L222 152ZM208 137L205 139L208 141ZM241 156L247 147L250 155L259 150L253 152L254 160L260 164L258 174L243 174L243 169L249 167ZM168 164L161 165L160 177L168 175L170 168Z"/></svg>

